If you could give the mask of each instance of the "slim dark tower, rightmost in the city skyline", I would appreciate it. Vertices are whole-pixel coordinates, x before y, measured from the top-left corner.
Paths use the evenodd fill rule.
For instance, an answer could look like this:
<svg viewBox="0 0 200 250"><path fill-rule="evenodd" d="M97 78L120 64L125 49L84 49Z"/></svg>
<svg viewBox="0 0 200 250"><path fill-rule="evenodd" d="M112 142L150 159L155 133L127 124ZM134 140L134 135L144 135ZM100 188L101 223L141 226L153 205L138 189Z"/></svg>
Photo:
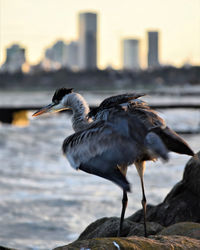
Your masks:
<svg viewBox="0 0 200 250"><path fill-rule="evenodd" d="M148 67L159 67L159 33L158 31L148 32Z"/></svg>

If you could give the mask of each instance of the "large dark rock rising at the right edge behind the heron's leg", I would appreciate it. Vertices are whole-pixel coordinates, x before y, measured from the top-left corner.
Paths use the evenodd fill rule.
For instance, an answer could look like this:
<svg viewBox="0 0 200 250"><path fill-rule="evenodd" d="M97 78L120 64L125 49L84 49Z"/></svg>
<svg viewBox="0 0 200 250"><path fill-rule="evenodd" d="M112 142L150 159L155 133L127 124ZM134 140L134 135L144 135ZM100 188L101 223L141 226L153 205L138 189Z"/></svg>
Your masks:
<svg viewBox="0 0 200 250"><path fill-rule="evenodd" d="M133 222L143 221L143 211L139 210L128 218ZM178 222L200 222L200 152L192 157L178 182L157 205L147 206L147 221L169 226Z"/></svg>

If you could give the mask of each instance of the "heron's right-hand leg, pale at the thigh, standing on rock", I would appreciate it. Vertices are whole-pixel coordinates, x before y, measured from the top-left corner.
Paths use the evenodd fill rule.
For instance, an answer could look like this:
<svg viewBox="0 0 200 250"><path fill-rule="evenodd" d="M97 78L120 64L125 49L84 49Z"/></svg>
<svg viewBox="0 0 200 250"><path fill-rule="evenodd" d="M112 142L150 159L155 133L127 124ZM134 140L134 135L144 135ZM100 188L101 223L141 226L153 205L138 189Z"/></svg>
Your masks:
<svg viewBox="0 0 200 250"><path fill-rule="evenodd" d="M140 176L141 186L142 186L142 208L143 208L143 216L144 216L144 236L147 237L147 223L146 223L146 196L144 191L144 170L145 170L145 161L136 162L135 166L137 168L138 174Z"/></svg>

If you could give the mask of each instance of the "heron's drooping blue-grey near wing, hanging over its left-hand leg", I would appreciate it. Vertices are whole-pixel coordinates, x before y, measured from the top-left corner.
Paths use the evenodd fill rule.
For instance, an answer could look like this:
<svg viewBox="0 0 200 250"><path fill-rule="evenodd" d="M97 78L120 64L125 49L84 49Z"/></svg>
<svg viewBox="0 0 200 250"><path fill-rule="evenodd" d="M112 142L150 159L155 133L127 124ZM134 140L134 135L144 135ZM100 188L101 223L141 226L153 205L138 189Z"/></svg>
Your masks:
<svg viewBox="0 0 200 250"><path fill-rule="evenodd" d="M111 180L128 191L129 183L118 166L133 163L139 147L131 138L128 120L120 117L113 123L94 123L69 136L63 152L73 168Z"/></svg>

